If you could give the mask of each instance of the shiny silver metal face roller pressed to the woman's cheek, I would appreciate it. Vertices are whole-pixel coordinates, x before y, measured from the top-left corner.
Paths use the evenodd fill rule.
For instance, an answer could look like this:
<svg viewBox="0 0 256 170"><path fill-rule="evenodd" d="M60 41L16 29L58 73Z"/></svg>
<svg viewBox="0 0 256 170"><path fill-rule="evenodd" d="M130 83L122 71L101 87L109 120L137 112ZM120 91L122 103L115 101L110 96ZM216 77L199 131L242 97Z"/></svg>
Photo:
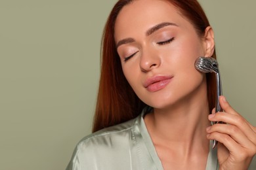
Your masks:
<svg viewBox="0 0 256 170"><path fill-rule="evenodd" d="M217 85L217 97L215 103L216 112L222 112L221 105L219 104L219 97L223 94L221 87L221 75L219 72L219 67L216 59L200 57L196 59L195 67L198 71L202 73L215 73L216 75L216 85ZM223 122L212 122L213 124L223 123ZM213 140L213 148L217 145L217 141Z"/></svg>

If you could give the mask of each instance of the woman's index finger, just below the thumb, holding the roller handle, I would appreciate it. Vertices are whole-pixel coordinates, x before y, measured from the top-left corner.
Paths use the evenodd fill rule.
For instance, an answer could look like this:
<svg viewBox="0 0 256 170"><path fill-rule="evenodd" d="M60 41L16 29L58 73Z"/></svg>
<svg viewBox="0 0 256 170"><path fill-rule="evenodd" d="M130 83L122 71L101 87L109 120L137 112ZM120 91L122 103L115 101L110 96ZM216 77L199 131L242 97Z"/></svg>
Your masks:
<svg viewBox="0 0 256 170"><path fill-rule="evenodd" d="M226 122L227 124L238 127L250 141L256 144L256 133L242 116L217 113L209 114L208 118L212 122Z"/></svg>

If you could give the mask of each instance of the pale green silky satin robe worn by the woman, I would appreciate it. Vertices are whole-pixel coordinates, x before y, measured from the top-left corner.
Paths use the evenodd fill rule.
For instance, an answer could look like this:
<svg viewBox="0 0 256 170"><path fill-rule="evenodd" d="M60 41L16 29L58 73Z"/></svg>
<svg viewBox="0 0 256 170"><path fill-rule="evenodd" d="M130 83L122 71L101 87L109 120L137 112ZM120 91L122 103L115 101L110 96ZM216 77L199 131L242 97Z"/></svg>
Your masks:
<svg viewBox="0 0 256 170"><path fill-rule="evenodd" d="M133 120L84 137L77 144L66 170L162 170L144 124L143 116L149 109L142 110L142 114ZM255 170L255 167L252 168ZM216 149L210 147L205 169L219 169Z"/></svg>

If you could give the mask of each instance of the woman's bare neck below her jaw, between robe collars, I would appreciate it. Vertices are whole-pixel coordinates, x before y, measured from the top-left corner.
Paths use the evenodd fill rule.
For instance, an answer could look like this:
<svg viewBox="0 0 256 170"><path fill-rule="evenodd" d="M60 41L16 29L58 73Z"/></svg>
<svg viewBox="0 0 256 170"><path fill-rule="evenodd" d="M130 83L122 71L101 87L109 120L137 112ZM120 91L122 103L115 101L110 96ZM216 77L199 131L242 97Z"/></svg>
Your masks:
<svg viewBox="0 0 256 170"><path fill-rule="evenodd" d="M171 107L154 109L145 116L145 123L155 146L166 146L189 158L209 151L205 131L210 125L208 114L207 93L201 90Z"/></svg>

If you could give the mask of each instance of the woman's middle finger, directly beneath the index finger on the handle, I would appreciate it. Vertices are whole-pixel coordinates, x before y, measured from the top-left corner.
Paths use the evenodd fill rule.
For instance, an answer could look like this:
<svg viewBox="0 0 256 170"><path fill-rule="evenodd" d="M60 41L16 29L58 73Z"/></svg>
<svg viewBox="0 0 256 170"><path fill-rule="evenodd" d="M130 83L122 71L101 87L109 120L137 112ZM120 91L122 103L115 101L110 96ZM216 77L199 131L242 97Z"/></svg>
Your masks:
<svg viewBox="0 0 256 170"><path fill-rule="evenodd" d="M244 148L252 148L255 147L255 144L250 141L245 134L236 126L228 125L228 124L215 124L213 126L207 127L207 133L224 133L226 135L230 135L236 143L239 143Z"/></svg>

